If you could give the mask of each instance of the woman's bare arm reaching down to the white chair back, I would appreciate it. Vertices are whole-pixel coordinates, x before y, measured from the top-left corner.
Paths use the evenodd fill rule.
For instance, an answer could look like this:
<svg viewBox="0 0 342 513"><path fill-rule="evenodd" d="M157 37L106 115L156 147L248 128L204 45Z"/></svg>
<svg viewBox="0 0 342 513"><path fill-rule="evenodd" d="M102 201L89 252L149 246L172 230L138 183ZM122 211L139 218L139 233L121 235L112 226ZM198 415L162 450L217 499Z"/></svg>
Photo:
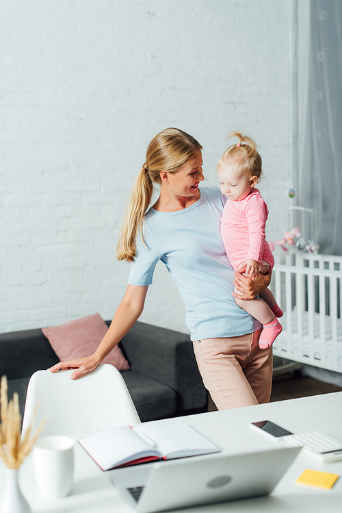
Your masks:
<svg viewBox="0 0 342 513"><path fill-rule="evenodd" d="M70 379L76 379L83 373L93 371L140 317L142 310L144 310L147 290L148 286L127 286L124 299L122 299L107 333L94 354L84 358L68 360L68 362L57 363L50 368L50 371L55 373L60 370L65 371L68 368L76 368L77 370L70 376Z"/></svg>

